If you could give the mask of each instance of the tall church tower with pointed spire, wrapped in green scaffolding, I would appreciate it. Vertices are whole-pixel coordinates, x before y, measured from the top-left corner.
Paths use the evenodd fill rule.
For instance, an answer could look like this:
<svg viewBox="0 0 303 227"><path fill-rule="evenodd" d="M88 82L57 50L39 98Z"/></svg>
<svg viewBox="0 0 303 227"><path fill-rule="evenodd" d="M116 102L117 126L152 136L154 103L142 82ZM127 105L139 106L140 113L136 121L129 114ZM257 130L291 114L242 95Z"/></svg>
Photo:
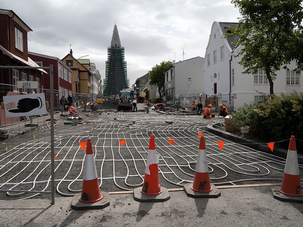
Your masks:
<svg viewBox="0 0 303 227"><path fill-rule="evenodd" d="M120 90L129 87L124 47L121 46L117 25L114 26L111 46L107 48L105 66L104 96L116 95Z"/></svg>

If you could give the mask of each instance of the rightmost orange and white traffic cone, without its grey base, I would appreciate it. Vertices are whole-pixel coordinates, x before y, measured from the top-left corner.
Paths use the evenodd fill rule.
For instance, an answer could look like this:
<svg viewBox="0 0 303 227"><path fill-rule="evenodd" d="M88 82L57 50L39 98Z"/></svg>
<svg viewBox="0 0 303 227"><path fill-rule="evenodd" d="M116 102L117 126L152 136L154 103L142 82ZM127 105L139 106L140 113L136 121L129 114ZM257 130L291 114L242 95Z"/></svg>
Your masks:
<svg viewBox="0 0 303 227"><path fill-rule="evenodd" d="M279 192L288 196L303 196L295 136L291 136L285 163L284 175Z"/></svg>

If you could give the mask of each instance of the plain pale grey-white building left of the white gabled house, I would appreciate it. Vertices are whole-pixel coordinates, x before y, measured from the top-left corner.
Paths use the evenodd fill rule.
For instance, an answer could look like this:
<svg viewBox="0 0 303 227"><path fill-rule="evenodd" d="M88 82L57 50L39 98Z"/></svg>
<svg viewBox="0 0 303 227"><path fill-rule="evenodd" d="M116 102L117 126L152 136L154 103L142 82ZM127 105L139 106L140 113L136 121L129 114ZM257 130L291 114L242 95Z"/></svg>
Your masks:
<svg viewBox="0 0 303 227"><path fill-rule="evenodd" d="M203 93L202 64L204 58L195 57L178 61L165 74L165 102L178 104L185 97L199 97Z"/></svg>

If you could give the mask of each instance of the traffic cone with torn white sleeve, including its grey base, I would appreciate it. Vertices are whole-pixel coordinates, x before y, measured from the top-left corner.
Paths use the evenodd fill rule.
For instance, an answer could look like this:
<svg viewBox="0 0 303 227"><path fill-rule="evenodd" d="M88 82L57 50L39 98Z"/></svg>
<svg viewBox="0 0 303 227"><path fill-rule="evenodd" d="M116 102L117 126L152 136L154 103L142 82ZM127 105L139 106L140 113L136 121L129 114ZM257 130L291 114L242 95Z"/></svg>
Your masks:
<svg viewBox="0 0 303 227"><path fill-rule="evenodd" d="M142 189L134 189L134 199L140 202L164 202L170 199L168 190L160 186L158 172L159 155L156 153L155 138L151 135ZM141 190L140 190L141 189Z"/></svg>

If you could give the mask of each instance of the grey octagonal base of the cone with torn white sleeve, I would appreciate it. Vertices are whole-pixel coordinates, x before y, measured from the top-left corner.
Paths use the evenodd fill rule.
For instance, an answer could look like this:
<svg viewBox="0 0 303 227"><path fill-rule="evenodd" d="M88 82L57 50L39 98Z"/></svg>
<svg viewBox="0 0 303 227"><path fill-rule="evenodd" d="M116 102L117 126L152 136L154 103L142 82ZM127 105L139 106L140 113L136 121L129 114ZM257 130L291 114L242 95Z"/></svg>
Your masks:
<svg viewBox="0 0 303 227"><path fill-rule="evenodd" d="M134 200L138 202L165 202L170 199L168 190L164 187L161 187L161 194L150 196L145 195L141 192L142 187L134 189Z"/></svg>

